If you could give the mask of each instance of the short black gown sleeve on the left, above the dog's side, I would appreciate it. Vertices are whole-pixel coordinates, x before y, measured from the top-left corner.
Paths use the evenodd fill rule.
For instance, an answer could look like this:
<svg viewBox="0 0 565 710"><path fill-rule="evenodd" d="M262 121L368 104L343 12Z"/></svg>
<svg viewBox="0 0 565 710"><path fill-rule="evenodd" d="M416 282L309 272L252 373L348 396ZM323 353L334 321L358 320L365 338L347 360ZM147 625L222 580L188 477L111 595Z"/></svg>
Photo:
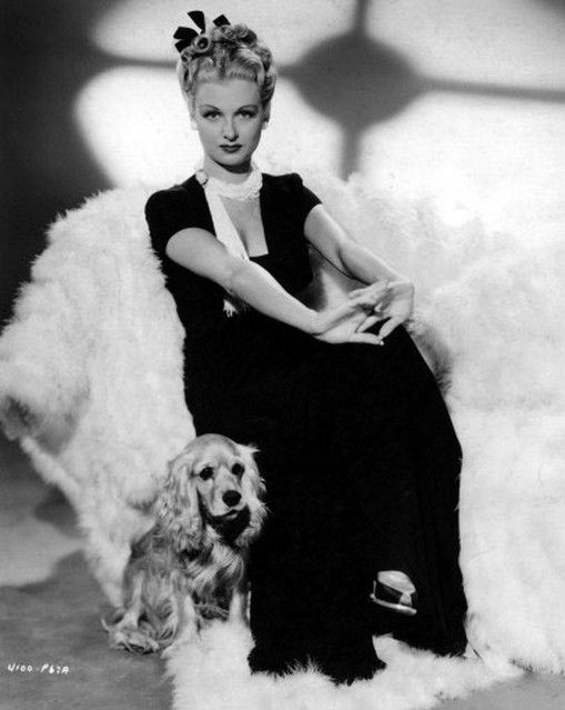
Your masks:
<svg viewBox="0 0 565 710"><path fill-rule="evenodd" d="M165 257L167 243L173 234L181 229L200 226L196 212L182 188L160 190L149 198L145 203L145 219L151 244L161 260Z"/></svg>

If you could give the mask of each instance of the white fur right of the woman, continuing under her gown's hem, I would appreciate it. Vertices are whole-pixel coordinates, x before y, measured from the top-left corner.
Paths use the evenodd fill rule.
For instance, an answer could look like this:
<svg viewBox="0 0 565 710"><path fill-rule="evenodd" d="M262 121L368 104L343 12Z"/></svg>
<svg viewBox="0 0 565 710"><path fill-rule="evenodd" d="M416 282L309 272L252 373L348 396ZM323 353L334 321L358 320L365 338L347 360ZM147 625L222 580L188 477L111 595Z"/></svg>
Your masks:
<svg viewBox="0 0 565 710"><path fill-rule="evenodd" d="M314 173L306 182L360 240L416 283L416 316L452 358L463 446L461 564L468 637L485 662L376 640L387 668L334 687L310 670L250 676L245 630L213 627L169 659L175 710L428 708L498 679L565 670L565 249L398 206ZM452 216L453 217L453 216Z"/></svg>

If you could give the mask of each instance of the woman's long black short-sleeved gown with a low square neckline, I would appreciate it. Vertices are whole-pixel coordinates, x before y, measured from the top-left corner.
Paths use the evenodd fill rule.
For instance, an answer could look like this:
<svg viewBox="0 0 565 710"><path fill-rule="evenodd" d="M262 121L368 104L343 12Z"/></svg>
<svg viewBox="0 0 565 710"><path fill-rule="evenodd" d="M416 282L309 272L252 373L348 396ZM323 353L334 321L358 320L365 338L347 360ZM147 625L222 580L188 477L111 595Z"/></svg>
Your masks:
<svg viewBox="0 0 565 710"><path fill-rule="evenodd" d="M269 253L253 261L293 294L312 279L303 226L317 203L297 174L264 174ZM151 196L145 214L186 330L185 398L196 433L260 449L270 516L251 550L252 670L313 661L336 681L367 678L381 666L372 634L384 632L461 652L461 447L405 329L384 347L329 344L252 309L228 317L223 290L165 254L183 228L214 232L196 179ZM370 600L379 570L408 574L415 617Z"/></svg>

